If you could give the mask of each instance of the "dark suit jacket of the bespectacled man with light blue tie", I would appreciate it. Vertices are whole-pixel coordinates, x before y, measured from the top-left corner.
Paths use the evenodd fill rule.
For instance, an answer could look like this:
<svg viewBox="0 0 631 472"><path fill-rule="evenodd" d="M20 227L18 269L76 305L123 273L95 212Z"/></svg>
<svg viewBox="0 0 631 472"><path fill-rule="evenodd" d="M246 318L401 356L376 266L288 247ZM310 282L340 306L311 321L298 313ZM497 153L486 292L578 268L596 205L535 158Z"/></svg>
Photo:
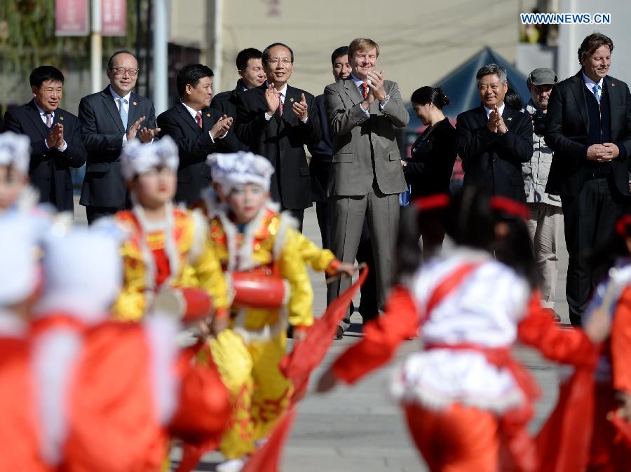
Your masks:
<svg viewBox="0 0 631 472"><path fill-rule="evenodd" d="M127 129L141 116L146 119L140 127L156 127L153 102L132 92ZM83 143L88 151L88 165L86 178L83 179L80 203L93 207L123 207L127 200L127 187L121 174L119 158L123 148L123 136L127 130L123 128L123 121L109 85L102 92L81 99L79 120L83 130Z"/></svg>

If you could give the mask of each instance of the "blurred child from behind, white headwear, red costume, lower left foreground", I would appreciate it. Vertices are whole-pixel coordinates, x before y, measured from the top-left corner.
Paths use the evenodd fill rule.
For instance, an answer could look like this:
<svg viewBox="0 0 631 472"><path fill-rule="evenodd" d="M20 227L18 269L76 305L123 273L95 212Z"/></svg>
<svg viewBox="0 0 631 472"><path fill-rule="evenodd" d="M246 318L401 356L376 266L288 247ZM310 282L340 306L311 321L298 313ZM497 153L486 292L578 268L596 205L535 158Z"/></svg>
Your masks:
<svg viewBox="0 0 631 472"><path fill-rule="evenodd" d="M40 454L55 470L157 472L170 436L207 440L231 412L217 370L177 349L188 320L173 305L156 303L142 323L108 321L118 247L102 228L46 240L31 330L35 398L21 404L35 405Z"/></svg>

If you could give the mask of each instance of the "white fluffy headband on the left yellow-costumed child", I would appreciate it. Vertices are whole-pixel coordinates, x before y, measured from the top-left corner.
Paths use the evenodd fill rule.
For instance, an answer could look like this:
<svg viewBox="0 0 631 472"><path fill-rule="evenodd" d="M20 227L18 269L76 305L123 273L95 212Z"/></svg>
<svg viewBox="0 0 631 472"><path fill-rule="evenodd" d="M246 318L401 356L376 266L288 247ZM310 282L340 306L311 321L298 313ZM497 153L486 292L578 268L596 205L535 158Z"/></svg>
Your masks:
<svg viewBox="0 0 631 472"><path fill-rule="evenodd" d="M147 144L133 140L123 148L121 165L125 180L132 180L135 176L145 174L153 167L161 165L177 172L179 165L177 145L168 136Z"/></svg>

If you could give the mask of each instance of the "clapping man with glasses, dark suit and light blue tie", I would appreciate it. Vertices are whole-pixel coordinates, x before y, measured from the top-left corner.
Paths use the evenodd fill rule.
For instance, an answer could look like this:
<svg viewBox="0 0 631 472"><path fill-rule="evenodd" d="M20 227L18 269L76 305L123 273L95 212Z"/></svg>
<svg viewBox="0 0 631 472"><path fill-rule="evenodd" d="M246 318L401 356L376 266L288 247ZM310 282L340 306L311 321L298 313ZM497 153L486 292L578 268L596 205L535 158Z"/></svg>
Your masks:
<svg viewBox="0 0 631 472"><path fill-rule="evenodd" d="M157 137L156 111L147 98L131 90L138 78L138 61L129 51L117 51L107 62L109 85L83 97L79 120L88 151L81 200L88 223L129 206L119 156L128 141L147 143Z"/></svg>

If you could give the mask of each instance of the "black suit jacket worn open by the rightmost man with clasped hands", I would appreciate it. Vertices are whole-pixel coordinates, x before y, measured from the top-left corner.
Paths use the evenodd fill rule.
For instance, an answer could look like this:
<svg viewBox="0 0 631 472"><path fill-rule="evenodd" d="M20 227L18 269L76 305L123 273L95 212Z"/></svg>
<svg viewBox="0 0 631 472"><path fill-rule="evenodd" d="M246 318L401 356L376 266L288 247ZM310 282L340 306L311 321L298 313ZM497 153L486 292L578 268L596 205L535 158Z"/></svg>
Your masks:
<svg viewBox="0 0 631 472"><path fill-rule="evenodd" d="M611 142L618 144L620 155L611 162L616 188L628 192L627 153L631 152L631 95L623 81L606 76L604 85L611 110ZM583 72L566 78L552 88L548 101L548 132L545 143L555 151L548 185L553 195L578 195L587 177L589 118Z"/></svg>

